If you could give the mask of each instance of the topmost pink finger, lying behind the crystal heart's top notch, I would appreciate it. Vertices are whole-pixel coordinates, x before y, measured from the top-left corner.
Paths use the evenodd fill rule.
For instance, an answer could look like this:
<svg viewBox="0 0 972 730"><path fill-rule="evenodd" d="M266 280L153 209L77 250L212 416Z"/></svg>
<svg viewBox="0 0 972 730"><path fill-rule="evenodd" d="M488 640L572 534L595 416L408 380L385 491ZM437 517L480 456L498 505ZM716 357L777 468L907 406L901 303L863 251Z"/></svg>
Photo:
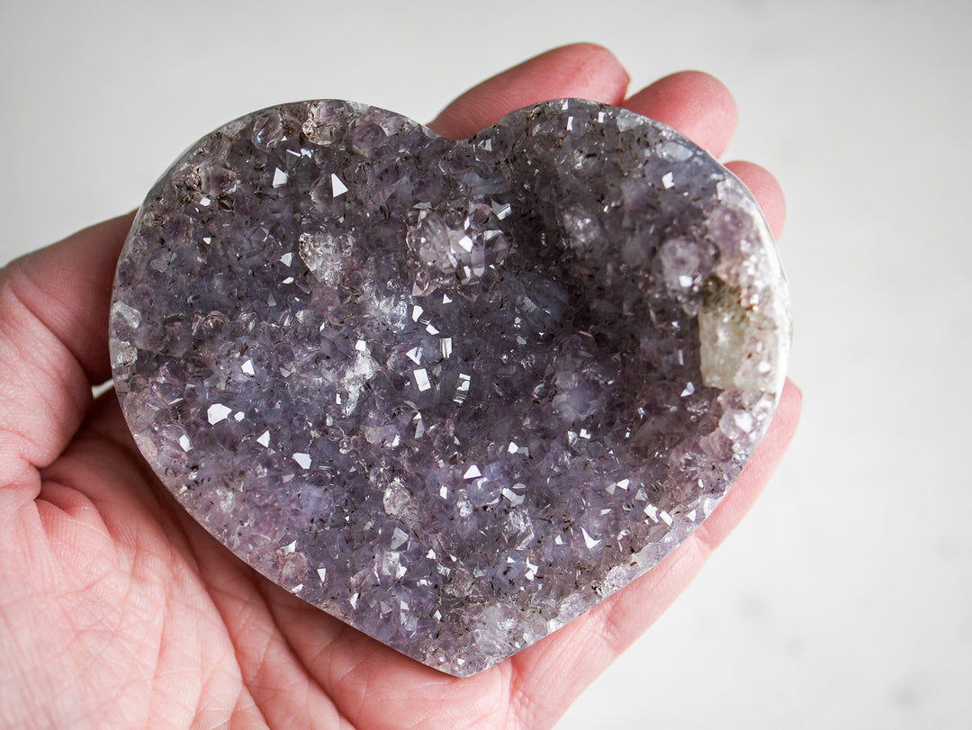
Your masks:
<svg viewBox="0 0 972 730"><path fill-rule="evenodd" d="M589 43L564 46L470 88L429 126L443 136L463 139L539 101L579 97L616 105L627 87L628 74L608 49Z"/></svg>

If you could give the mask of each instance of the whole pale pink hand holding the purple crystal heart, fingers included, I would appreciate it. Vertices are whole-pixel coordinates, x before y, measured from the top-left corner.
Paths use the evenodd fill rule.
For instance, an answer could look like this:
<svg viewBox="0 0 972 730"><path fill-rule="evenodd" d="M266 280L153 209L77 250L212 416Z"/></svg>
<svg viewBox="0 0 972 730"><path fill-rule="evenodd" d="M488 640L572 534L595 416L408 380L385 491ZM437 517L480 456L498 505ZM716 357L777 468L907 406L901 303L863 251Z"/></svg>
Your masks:
<svg viewBox="0 0 972 730"><path fill-rule="evenodd" d="M532 58L432 123L462 138L579 96L677 127L719 156L729 92L697 72L627 96L590 45ZM782 194L730 162L779 235ZM276 587L181 511L109 391L108 302L131 216L0 271L0 726L548 727L667 608L762 491L795 429L787 383L769 433L712 517L654 570L472 678L440 674ZM652 670L646 669L646 672Z"/></svg>

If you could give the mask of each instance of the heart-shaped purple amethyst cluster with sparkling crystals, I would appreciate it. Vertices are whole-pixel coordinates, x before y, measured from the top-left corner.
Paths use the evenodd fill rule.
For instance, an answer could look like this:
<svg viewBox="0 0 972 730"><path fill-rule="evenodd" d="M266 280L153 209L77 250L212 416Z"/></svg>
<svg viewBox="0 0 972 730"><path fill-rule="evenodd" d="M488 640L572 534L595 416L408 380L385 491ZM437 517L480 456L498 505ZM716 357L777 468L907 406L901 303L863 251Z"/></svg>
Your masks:
<svg viewBox="0 0 972 730"><path fill-rule="evenodd" d="M260 573L468 676L657 563L766 430L785 280L744 186L581 100L467 141L325 100L203 138L119 261L149 464Z"/></svg>

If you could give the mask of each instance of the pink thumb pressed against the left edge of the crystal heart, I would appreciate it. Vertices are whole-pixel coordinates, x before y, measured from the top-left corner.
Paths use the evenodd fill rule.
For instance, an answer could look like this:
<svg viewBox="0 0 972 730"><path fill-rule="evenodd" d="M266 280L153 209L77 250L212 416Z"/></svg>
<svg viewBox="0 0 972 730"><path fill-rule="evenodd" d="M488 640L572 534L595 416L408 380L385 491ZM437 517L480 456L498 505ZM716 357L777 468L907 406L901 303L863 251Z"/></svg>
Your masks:
<svg viewBox="0 0 972 730"><path fill-rule="evenodd" d="M108 302L132 216L92 226L0 270L0 484L50 464L110 376ZM34 495L36 496L36 495Z"/></svg>

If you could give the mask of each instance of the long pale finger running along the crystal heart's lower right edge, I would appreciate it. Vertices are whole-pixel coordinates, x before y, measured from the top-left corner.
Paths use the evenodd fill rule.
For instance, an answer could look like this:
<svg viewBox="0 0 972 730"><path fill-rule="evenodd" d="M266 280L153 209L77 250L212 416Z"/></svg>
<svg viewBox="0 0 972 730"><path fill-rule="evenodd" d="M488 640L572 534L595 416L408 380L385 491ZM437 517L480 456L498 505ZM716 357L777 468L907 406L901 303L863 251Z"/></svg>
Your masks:
<svg viewBox="0 0 972 730"><path fill-rule="evenodd" d="M773 422L725 499L693 535L658 566L604 603L512 657L514 691L527 726L563 713L675 600L712 549L732 531L762 492L800 417L800 392L789 381ZM514 702L514 705L517 704Z"/></svg>

